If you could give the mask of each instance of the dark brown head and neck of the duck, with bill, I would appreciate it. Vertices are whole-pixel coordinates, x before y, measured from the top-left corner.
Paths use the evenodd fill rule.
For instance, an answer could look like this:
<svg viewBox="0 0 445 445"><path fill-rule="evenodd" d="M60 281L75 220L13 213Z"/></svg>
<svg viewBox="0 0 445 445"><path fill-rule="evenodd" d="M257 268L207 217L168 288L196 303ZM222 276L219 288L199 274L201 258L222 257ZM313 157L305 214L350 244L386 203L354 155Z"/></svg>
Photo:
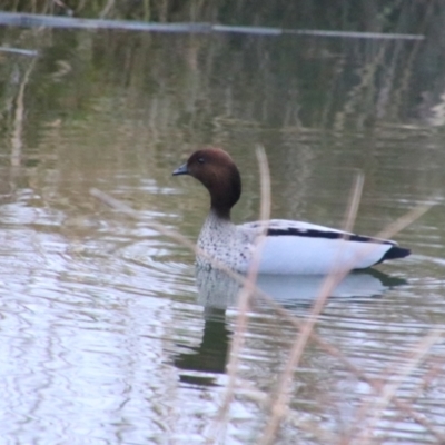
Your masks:
<svg viewBox="0 0 445 445"><path fill-rule="evenodd" d="M209 191L211 209L221 218L230 218L230 209L241 195L241 178L230 156L220 148L195 151L186 164L174 171L190 175Z"/></svg>

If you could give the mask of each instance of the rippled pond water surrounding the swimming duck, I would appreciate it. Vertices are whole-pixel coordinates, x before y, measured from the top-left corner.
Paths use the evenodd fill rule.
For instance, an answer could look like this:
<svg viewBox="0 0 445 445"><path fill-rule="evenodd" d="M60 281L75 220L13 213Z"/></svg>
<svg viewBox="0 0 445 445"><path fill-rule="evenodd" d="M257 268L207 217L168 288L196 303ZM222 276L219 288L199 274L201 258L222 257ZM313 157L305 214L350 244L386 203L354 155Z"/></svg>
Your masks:
<svg viewBox="0 0 445 445"><path fill-rule="evenodd" d="M230 152L234 220L258 218L256 147L274 218L394 239L413 255L332 293L269 443L445 437L443 79L419 41L2 29L0 349L4 444L266 441L317 277L259 277L227 400L239 285L197 274L206 190L171 172ZM97 188L138 212L130 218ZM233 357L234 358L234 357ZM443 443L443 442L442 442Z"/></svg>

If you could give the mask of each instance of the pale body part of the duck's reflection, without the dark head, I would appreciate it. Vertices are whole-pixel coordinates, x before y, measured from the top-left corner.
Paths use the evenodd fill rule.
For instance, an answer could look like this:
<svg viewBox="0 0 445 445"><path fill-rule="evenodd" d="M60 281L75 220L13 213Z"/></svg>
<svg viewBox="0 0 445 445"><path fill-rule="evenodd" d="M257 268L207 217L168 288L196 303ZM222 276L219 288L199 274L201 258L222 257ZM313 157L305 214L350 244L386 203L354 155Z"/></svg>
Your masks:
<svg viewBox="0 0 445 445"><path fill-rule="evenodd" d="M258 275L260 290L285 306L307 306L318 296L324 276L317 275ZM389 277L377 270L356 271L347 275L333 290L332 298L379 297L387 289L405 280ZM225 271L197 267L198 301L206 308L224 309L237 304L241 285Z"/></svg>

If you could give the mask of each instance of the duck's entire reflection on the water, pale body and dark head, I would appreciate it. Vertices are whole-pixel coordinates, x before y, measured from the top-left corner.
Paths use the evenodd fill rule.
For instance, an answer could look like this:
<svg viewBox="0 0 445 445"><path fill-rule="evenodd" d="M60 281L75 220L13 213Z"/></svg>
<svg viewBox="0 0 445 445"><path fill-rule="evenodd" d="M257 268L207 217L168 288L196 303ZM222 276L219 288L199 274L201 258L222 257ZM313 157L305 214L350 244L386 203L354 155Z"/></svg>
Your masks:
<svg viewBox="0 0 445 445"><path fill-rule="evenodd" d="M304 310L317 297L324 277L259 275L257 286L277 303ZM376 270L353 273L333 290L332 298L380 297L387 289L405 281ZM241 285L219 269L197 267L198 303L205 308L202 340L177 355L175 366L182 369L180 380L197 385L215 385L215 376L226 372L230 330L226 308L237 305ZM210 373L210 374L209 374Z"/></svg>

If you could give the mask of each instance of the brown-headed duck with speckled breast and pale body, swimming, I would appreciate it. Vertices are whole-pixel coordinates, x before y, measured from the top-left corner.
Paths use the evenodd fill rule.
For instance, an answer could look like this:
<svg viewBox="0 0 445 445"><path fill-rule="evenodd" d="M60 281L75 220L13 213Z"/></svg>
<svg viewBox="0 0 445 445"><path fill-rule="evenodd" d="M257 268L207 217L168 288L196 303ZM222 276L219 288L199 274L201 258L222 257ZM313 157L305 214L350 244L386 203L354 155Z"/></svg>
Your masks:
<svg viewBox="0 0 445 445"><path fill-rule="evenodd" d="M220 148L195 151L172 175L194 177L210 195L210 210L197 243L198 267L211 269L215 261L210 258L214 258L231 270L246 274L258 255L259 274L326 275L367 269L411 254L393 240L312 222L271 219L234 224L230 210L241 196L241 177L230 155Z"/></svg>

